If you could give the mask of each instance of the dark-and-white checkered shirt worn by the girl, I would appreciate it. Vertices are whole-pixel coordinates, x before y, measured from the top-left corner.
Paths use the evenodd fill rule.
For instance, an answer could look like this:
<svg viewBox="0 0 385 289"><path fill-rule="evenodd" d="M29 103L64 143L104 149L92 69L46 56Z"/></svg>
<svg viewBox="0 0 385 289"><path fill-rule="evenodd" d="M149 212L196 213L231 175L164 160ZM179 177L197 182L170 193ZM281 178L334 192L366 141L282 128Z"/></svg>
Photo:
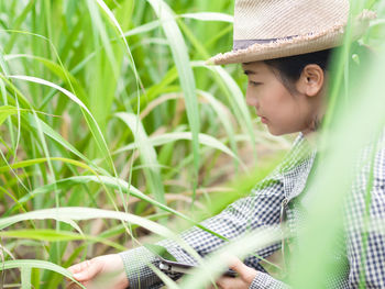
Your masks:
<svg viewBox="0 0 385 289"><path fill-rule="evenodd" d="M371 156L373 147L364 149L360 164L363 164L359 175L352 186L352 196L348 214L350 225L361 227L365 213L365 193L369 181L369 174L373 169L374 181L371 188L371 210L370 219L377 220L377 229L385 220L385 133L376 146L374 164L371 166L367 158ZM378 148L380 147L380 148ZM305 190L308 176L314 167L317 149L299 133L293 148L286 155L280 165L261 182L258 182L251 193L224 209L220 214L215 215L201 224L229 240L235 240L246 231L262 226L275 226L280 230L279 220L282 205L287 203L287 223L292 233L298 232L299 224L304 220L304 212L300 204L295 201ZM350 218L349 218L350 215ZM385 288L385 236L384 233L369 231L364 268L362 268L362 232L360 230L349 231L340 238L342 249L336 260L339 262L339 274L331 276L327 280L326 288L358 288L360 274L365 277L365 288ZM384 232L384 231L382 231ZM224 245L224 241L202 231L198 227L182 233L182 237L200 255L218 249ZM196 264L178 244L164 240L158 243L167 248L169 253L180 263ZM258 273L250 288L290 288L288 285L273 278L260 264L260 258L266 258L280 249L280 242L264 247L244 259L244 263L255 268ZM129 249L119 255L123 259L129 288L161 288L161 279L147 266L153 264L158 266L158 258L144 247ZM166 271L165 271L166 273ZM177 279L182 275L166 273L170 278Z"/></svg>

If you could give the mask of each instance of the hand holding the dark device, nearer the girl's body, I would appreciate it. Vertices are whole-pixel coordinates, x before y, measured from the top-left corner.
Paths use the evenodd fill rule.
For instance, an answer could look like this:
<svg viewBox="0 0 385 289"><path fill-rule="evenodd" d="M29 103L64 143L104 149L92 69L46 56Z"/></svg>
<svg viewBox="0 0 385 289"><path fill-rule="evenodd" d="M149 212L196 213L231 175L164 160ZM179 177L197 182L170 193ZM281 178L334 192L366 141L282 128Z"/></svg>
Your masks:
<svg viewBox="0 0 385 289"><path fill-rule="evenodd" d="M220 289L248 289L257 274L255 269L244 265L237 257L231 257L229 267L238 273L238 277L222 276L219 278L216 284Z"/></svg>

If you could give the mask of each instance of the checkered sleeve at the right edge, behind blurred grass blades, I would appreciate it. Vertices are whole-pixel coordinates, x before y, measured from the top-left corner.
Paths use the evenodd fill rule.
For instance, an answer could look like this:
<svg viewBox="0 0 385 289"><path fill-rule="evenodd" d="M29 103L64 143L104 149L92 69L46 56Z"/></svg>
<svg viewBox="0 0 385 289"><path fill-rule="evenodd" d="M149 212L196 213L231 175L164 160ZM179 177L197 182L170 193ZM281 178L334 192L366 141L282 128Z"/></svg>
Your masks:
<svg viewBox="0 0 385 289"><path fill-rule="evenodd" d="M367 153L348 202L350 288L385 288L385 148Z"/></svg>

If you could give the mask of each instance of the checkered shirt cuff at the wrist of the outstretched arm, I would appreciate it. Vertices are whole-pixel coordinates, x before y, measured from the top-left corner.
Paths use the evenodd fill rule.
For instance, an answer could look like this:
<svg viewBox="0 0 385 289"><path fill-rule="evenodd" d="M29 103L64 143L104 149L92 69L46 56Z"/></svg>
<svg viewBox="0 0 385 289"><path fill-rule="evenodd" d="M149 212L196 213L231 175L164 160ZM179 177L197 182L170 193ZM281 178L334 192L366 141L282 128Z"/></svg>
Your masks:
<svg viewBox="0 0 385 289"><path fill-rule="evenodd" d="M119 253L122 257L130 289L161 288L163 282L148 267L148 264L158 266L157 257L145 247L138 247Z"/></svg>

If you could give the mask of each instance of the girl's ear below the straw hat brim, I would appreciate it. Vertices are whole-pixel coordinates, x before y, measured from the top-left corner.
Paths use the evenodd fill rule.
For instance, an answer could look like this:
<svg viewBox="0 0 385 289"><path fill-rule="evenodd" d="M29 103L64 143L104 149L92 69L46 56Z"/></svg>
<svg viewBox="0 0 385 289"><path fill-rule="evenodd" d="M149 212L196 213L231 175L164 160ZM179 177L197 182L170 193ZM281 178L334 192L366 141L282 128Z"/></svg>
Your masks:
<svg viewBox="0 0 385 289"><path fill-rule="evenodd" d="M322 68L317 64L305 66L296 84L297 90L307 97L317 96L323 87L324 74Z"/></svg>

